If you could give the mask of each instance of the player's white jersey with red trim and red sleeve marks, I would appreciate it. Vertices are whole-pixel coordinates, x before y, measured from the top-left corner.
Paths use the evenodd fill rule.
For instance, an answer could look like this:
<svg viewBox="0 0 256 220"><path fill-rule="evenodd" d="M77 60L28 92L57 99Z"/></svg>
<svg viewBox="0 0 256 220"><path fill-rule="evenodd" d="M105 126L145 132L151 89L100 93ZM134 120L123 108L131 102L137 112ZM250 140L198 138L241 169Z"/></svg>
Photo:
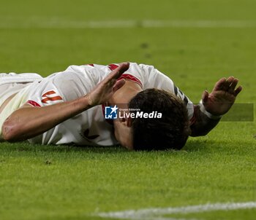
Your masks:
<svg viewBox="0 0 256 220"><path fill-rule="evenodd" d="M91 92L117 66L118 64L69 66L65 71L51 74L43 79L37 79L21 89L7 104L4 111L11 109L8 112L10 115L24 103L40 107L80 98ZM129 69L121 78L138 83L143 90L159 88L178 95L187 106L189 119L192 119L194 113L192 102L181 90L178 90L171 79L159 72L154 66L130 63ZM113 133L113 125L105 120L102 106L94 106L87 111L83 111L83 113L67 119L47 132L29 139L29 142L34 144L91 146L118 144Z"/></svg>

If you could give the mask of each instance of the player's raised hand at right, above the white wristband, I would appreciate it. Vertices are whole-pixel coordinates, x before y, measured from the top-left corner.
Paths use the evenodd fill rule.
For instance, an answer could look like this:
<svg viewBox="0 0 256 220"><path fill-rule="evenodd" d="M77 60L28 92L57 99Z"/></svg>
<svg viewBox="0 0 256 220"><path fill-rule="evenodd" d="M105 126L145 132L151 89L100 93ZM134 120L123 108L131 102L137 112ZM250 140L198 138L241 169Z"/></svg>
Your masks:
<svg viewBox="0 0 256 220"><path fill-rule="evenodd" d="M236 96L241 92L238 79L233 76L219 79L211 93L204 91L202 94L203 105L206 111L214 115L222 115L230 110L236 100Z"/></svg>

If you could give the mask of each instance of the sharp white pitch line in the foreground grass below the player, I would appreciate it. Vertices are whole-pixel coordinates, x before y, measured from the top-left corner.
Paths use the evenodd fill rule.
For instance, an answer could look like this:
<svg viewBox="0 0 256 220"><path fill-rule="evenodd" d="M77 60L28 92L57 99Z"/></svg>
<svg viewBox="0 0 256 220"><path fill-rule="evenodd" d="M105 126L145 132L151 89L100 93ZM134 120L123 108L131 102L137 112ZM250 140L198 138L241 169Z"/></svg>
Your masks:
<svg viewBox="0 0 256 220"><path fill-rule="evenodd" d="M187 213L202 213L209 211L230 211L238 209L256 208L256 202L247 203L215 203L206 205L189 205L183 207L170 207L170 208L146 208L140 210L117 211L97 213L97 216L113 219L168 219L162 217L174 213L187 214ZM173 218L170 218L173 219Z"/></svg>

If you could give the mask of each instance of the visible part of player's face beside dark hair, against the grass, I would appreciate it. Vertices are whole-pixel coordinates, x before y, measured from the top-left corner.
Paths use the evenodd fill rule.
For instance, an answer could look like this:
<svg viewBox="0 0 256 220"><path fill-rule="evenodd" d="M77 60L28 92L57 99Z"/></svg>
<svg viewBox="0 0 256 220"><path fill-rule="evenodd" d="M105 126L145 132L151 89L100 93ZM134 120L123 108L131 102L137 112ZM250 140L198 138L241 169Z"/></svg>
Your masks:
<svg viewBox="0 0 256 220"><path fill-rule="evenodd" d="M113 120L116 140L125 148L132 150L132 127L129 127L126 119ZM128 124L128 125L127 125Z"/></svg>

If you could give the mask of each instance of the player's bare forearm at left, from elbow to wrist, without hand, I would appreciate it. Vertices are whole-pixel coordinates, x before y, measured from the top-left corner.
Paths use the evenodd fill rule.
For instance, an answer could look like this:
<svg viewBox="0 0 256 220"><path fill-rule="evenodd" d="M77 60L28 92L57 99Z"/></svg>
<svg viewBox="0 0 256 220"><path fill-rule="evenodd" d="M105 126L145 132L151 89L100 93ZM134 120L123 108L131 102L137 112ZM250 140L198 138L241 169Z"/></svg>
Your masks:
<svg viewBox="0 0 256 220"><path fill-rule="evenodd" d="M75 101L44 107L23 107L14 111L4 122L4 140L22 141L44 133L61 122L86 111L91 106L87 96Z"/></svg>

